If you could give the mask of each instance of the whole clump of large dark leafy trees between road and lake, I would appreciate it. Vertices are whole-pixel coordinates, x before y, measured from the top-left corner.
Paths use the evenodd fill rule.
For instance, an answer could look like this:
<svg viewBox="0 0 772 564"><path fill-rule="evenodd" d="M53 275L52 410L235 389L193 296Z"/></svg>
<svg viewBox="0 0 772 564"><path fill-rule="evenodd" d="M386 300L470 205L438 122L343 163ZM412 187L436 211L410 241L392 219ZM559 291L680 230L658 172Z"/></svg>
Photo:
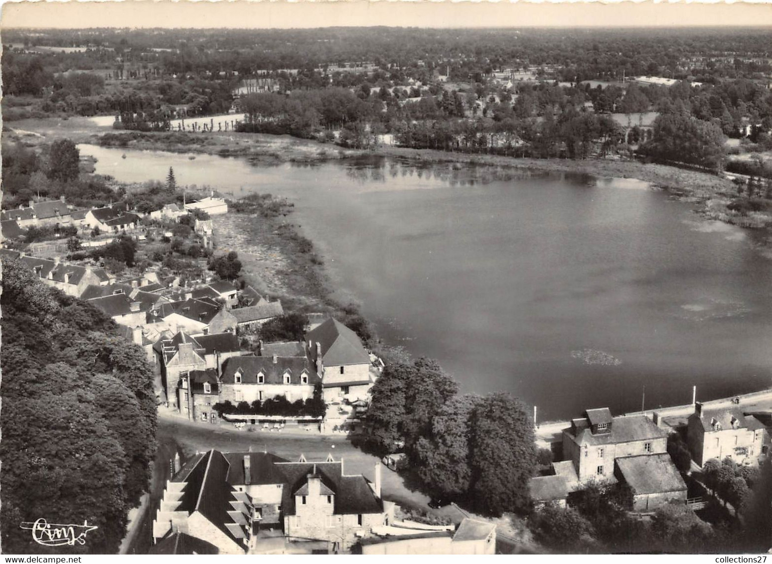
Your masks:
<svg viewBox="0 0 772 564"><path fill-rule="evenodd" d="M536 450L533 421L508 393L459 395L458 384L425 358L389 363L372 390L370 434L380 456L404 450L411 473L435 498L487 515L527 512Z"/></svg>

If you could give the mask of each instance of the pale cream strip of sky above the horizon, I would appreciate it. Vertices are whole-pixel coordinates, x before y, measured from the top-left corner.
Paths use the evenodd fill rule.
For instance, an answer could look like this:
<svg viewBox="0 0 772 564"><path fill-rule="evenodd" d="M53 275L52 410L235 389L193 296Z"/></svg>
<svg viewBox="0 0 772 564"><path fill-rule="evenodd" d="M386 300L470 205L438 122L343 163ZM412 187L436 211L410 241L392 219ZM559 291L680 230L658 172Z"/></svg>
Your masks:
<svg viewBox="0 0 772 564"><path fill-rule="evenodd" d="M768 25L761 2L3 2L2 28L289 29L387 25L425 28Z"/></svg>

